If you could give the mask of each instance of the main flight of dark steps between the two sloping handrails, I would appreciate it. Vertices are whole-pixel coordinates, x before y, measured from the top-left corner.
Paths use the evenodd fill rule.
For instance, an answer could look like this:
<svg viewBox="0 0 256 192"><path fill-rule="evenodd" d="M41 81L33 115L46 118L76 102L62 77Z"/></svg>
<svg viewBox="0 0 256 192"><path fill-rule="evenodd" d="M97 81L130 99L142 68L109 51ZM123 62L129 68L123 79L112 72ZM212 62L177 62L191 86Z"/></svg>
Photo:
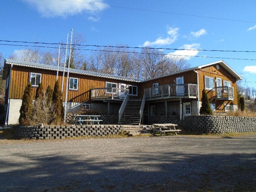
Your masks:
<svg viewBox="0 0 256 192"><path fill-rule="evenodd" d="M128 100L118 124L139 125L141 104L140 99Z"/></svg>

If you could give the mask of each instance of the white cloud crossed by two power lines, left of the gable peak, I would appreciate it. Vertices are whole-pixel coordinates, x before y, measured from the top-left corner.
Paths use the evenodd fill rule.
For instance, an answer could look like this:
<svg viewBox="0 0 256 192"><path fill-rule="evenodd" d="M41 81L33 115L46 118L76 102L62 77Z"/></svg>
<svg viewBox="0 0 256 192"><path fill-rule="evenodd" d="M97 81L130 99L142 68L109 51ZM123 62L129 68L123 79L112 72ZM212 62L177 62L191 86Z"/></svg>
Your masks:
<svg viewBox="0 0 256 192"><path fill-rule="evenodd" d="M193 44L184 44L179 49L200 49L200 44L193 43ZM175 57L182 57L186 60L190 60L191 57L189 56L196 56L198 54L198 50L177 50L175 52L171 52L170 57L173 57L174 55L179 55ZM182 56L184 55L184 56Z"/></svg>

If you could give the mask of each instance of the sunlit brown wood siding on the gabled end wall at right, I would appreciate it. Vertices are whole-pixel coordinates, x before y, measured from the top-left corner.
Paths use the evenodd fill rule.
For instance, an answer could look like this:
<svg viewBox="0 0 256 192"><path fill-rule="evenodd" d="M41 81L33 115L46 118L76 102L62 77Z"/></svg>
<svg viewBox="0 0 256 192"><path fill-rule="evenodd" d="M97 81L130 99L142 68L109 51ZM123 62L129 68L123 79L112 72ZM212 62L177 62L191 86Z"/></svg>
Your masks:
<svg viewBox="0 0 256 192"><path fill-rule="evenodd" d="M216 100L215 101L215 96L216 92L215 91L209 91L206 90L208 94L209 101L211 103L215 103L216 108L218 112L225 112L225 106L226 104L234 104L237 105L237 86L236 86L236 78L232 76L226 69L224 69L222 66L220 66L220 69L218 70L216 68L216 65L212 65L206 68L202 68L197 70L198 75L199 75L199 99L201 101L202 98L202 92L204 90L204 76L209 76L213 77L214 80L216 80L216 77L221 78L222 80L222 86L223 86L223 80L226 81L231 81L231 86L234 87L234 100L233 101L221 101L221 100ZM216 83L215 83L216 86Z"/></svg>

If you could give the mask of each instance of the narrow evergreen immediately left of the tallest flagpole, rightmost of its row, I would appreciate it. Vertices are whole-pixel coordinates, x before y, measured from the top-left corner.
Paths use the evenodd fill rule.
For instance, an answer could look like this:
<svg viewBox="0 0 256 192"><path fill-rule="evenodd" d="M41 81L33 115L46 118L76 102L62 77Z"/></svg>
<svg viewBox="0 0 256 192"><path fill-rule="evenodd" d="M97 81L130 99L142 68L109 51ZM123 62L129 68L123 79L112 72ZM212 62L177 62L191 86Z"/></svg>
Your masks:
<svg viewBox="0 0 256 192"><path fill-rule="evenodd" d="M54 115L55 115L54 120L56 121L56 123L60 123L60 121L63 118L64 108L63 108L62 93L60 91L59 80L57 80L54 85L54 89L52 93L52 104L54 107Z"/></svg>

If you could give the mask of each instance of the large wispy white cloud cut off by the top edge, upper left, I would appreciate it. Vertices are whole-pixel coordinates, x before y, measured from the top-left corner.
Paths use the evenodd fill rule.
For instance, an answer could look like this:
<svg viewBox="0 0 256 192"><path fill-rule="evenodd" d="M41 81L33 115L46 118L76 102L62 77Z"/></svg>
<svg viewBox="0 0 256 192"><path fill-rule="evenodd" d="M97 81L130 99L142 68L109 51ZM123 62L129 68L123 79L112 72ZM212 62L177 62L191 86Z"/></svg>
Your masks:
<svg viewBox="0 0 256 192"><path fill-rule="evenodd" d="M75 15L84 11L94 13L102 11L107 6L97 5L104 4L103 0L79 0L83 3L74 3L68 1L57 1L57 0L23 0L24 2L35 7L37 11L44 17L66 17L69 15ZM86 4L90 3L90 4Z"/></svg>

